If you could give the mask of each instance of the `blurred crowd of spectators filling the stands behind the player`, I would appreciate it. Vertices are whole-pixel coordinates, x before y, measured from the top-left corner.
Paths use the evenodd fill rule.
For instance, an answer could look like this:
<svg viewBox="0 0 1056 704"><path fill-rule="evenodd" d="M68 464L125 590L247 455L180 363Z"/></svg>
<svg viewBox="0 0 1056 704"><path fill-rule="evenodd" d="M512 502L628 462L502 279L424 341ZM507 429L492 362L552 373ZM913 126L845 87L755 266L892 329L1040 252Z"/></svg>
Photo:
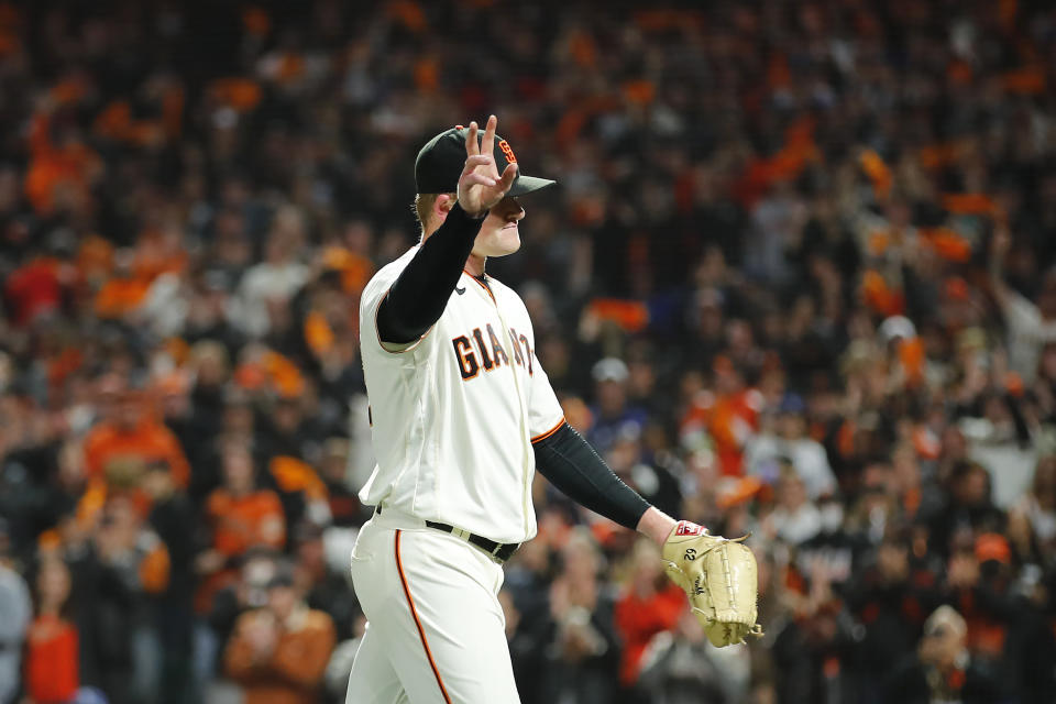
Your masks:
<svg viewBox="0 0 1056 704"><path fill-rule="evenodd" d="M1052 702L1054 67L1043 0L0 3L0 703L344 701L359 294L491 112L561 185L488 273L766 630L538 479L526 704Z"/></svg>

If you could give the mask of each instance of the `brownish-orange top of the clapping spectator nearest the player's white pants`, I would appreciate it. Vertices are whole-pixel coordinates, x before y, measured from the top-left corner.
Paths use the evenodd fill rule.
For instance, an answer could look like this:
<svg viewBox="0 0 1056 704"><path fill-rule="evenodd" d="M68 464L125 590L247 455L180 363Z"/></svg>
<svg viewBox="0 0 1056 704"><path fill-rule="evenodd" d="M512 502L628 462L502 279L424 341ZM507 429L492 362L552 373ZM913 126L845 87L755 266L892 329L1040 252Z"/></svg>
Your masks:
<svg viewBox="0 0 1056 704"><path fill-rule="evenodd" d="M223 657L228 676L242 684L245 704L317 704L337 637L333 622L326 612L300 608L279 629L275 647L261 651L251 624L268 616L262 609L239 617Z"/></svg>

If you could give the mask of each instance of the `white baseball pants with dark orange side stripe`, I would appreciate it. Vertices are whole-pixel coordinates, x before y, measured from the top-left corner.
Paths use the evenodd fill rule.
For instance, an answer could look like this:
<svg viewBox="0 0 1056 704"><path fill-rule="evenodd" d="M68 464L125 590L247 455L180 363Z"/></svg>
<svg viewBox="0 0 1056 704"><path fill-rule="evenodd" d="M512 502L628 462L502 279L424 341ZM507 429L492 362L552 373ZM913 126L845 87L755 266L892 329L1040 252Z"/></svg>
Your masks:
<svg viewBox="0 0 1056 704"><path fill-rule="evenodd" d="M345 704L519 704L503 569L482 550L386 507L360 531L352 582L369 623Z"/></svg>

